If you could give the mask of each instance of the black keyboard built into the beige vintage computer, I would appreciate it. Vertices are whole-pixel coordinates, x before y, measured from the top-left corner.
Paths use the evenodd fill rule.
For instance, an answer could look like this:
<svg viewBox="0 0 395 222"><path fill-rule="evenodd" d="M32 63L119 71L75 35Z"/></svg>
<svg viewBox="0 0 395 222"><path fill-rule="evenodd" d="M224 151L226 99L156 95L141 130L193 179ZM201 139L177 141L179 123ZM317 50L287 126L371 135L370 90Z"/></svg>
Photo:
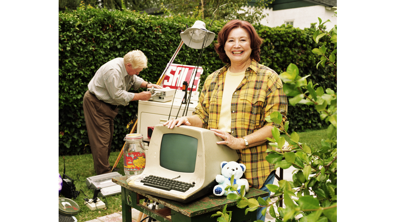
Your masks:
<svg viewBox="0 0 395 222"><path fill-rule="evenodd" d="M153 175L145 177L140 182L144 183L145 186L154 187L166 191L175 190L180 192L186 192L189 188L195 186L193 183L187 183Z"/></svg>

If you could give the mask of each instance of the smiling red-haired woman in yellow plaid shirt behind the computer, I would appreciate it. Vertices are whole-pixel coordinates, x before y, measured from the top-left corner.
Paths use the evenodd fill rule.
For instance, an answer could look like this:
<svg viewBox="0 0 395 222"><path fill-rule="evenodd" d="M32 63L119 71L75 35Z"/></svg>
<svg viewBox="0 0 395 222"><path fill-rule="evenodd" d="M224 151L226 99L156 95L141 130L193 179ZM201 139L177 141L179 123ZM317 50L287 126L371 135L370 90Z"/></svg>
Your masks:
<svg viewBox="0 0 395 222"><path fill-rule="evenodd" d="M245 21L229 21L218 33L215 46L224 67L209 75L204 83L193 115L169 120L169 128L182 124L208 128L237 150L240 162L246 165L249 186L267 190L275 176L274 165L266 161L267 137L272 128L283 128L288 103L277 73L259 64L260 45L254 27ZM269 123L265 117L282 114L282 123ZM264 221L265 211L257 212Z"/></svg>

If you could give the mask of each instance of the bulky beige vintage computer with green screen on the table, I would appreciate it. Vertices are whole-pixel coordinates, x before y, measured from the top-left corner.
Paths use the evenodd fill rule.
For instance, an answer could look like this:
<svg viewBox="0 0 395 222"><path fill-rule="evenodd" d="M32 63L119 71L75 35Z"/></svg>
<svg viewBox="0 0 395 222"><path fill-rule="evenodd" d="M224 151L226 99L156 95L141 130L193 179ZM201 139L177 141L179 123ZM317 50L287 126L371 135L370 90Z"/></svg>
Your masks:
<svg viewBox="0 0 395 222"><path fill-rule="evenodd" d="M235 150L217 141L223 140L205 128L156 125L146 151L145 170L127 182L132 190L184 203L212 193L218 184L216 176L221 174L221 162L239 159ZM166 183L152 184L153 176L186 182L192 187L180 191Z"/></svg>

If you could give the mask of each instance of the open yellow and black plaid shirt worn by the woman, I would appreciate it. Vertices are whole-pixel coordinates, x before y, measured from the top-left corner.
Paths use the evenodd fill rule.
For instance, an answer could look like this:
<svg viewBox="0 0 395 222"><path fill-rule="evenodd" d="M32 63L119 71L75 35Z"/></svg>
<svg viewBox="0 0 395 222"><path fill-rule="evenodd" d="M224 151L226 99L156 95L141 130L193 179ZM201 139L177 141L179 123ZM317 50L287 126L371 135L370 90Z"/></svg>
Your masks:
<svg viewBox="0 0 395 222"><path fill-rule="evenodd" d="M218 128L220 119L222 93L226 71L230 64L209 75L204 83L194 115L203 122L203 128ZM282 89L281 79L277 73L255 60L245 71L245 78L237 87L231 102L231 131L236 138L247 136L266 125L281 130L286 121L288 102ZM273 112L282 114L282 123L268 123L265 117ZM275 170L274 164L266 161L266 149L271 148L269 141L261 145L237 150L240 162L246 166L244 173L249 186L260 189L268 175Z"/></svg>

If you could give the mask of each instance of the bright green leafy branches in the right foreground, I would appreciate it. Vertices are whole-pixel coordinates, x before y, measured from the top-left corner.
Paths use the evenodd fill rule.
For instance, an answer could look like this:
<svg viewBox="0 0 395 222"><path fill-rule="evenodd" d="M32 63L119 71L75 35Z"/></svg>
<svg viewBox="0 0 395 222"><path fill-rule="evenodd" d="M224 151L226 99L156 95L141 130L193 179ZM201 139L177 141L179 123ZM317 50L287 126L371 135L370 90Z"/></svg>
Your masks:
<svg viewBox="0 0 395 222"><path fill-rule="evenodd" d="M329 42L334 44L334 50L327 56L328 48L325 45L313 49L313 53L321 56L316 68L318 69L320 64L322 67L328 65L335 73L337 28L335 26L331 31L326 32L324 24L329 20L324 23L320 18L318 20L319 26L313 35L314 41L318 43L327 35ZM273 138L267 138L273 149L266 151L269 153L266 160L274 164L275 169L294 167L296 170L292 175L293 181L280 180L278 186L266 185L275 197L283 195L283 198L277 198L274 202L268 202L262 198L247 199L240 193L228 195L227 199L237 200L239 208L248 207L245 213L255 211L259 207L268 207L270 215L276 218L276 222L337 221L337 95L333 89L324 90L323 87L313 85L311 81L308 82L309 76L300 77L298 67L292 63L285 72L279 75L283 82L283 90L289 98L289 104L292 106L313 105L320 114L321 120L330 123L327 128L327 137L321 140L321 146L309 147L299 142L299 135L296 132L291 135L287 133L289 121L285 122L281 130L274 127ZM265 120L281 124L282 118L279 112L275 112ZM289 138L289 145L285 145L285 138L280 136L281 133ZM244 189L241 190L241 193L243 192ZM280 200L284 201L285 208L279 207ZM278 212L275 211L274 205L277 206ZM221 215L225 216L224 213ZM217 220L225 221L220 218Z"/></svg>

